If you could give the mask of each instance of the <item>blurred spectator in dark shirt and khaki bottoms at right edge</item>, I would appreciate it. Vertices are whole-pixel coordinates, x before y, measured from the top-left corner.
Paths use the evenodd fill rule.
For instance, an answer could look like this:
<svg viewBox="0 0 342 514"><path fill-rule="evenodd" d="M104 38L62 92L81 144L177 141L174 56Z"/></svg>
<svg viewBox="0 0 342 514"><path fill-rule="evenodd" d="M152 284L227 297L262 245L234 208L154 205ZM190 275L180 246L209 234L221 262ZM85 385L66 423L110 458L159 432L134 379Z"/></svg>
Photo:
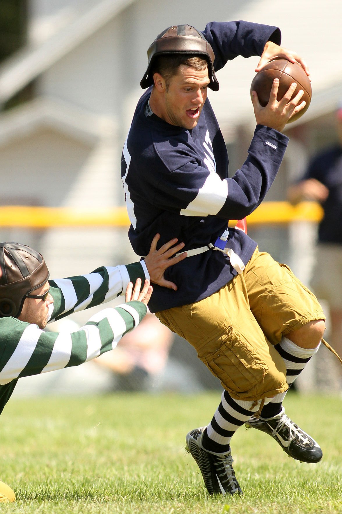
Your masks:
<svg viewBox="0 0 342 514"><path fill-rule="evenodd" d="M318 201L324 216L318 227L318 241L311 286L330 311L331 344L342 355L342 105L336 111L337 142L318 153L304 176L288 190L292 204ZM338 366L342 387L342 371Z"/></svg>

